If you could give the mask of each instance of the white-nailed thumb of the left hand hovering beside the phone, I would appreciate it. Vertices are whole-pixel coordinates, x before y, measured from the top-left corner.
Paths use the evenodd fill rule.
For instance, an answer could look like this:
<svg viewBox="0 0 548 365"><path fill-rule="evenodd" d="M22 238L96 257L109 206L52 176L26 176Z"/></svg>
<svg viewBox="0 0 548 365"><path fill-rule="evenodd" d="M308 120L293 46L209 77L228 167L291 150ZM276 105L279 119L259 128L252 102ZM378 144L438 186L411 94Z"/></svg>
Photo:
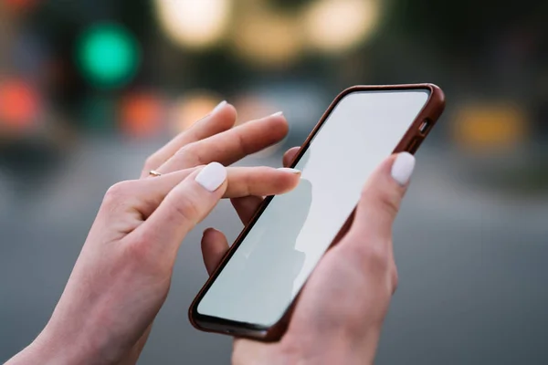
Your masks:
<svg viewBox="0 0 548 365"><path fill-rule="evenodd" d="M227 190L227 169L218 162L196 170L167 194L163 202L133 232L137 245L153 256L175 257L184 236L202 221Z"/></svg>

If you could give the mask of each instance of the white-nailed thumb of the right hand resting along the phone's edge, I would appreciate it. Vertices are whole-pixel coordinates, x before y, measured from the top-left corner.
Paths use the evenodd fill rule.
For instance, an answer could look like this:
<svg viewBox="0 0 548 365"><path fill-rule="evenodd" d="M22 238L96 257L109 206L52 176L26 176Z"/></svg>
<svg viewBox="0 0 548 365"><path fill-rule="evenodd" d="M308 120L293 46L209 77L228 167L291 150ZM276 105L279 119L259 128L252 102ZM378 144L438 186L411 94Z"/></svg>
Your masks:
<svg viewBox="0 0 548 365"><path fill-rule="evenodd" d="M415 157L408 152L392 155L381 163L365 183L351 235L390 237L392 224L414 169Z"/></svg>

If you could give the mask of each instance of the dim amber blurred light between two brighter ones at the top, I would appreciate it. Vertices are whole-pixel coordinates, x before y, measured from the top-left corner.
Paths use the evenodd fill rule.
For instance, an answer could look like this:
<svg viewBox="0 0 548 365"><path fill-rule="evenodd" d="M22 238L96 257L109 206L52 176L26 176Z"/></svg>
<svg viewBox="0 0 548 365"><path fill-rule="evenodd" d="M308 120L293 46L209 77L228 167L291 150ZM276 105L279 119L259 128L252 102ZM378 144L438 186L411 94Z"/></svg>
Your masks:
<svg viewBox="0 0 548 365"><path fill-rule="evenodd" d="M303 49L298 20L295 16L250 13L235 27L237 56L258 66L289 66Z"/></svg>

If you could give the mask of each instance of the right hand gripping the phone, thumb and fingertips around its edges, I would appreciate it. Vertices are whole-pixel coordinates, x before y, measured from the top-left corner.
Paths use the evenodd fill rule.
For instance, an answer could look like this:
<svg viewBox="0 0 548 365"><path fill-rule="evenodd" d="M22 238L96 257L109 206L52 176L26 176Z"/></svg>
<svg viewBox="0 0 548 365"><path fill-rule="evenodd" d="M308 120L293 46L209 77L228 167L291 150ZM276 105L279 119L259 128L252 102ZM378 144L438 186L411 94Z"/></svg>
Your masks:
<svg viewBox="0 0 548 365"><path fill-rule="evenodd" d="M294 153L290 150L284 161ZM285 336L270 344L236 339L233 363L373 363L397 286L392 224L414 166L415 158L406 152L379 166L364 186L350 230L322 257L303 288ZM248 207L254 211L252 204ZM249 219L240 216L244 223ZM202 247L211 273L227 252L227 239L208 229Z"/></svg>

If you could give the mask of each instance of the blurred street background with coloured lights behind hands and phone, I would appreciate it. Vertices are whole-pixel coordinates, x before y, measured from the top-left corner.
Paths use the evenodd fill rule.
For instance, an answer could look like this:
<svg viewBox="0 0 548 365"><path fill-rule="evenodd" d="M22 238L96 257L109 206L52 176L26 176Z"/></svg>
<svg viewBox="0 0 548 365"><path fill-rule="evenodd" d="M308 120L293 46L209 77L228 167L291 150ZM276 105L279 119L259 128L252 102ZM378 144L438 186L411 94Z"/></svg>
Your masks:
<svg viewBox="0 0 548 365"><path fill-rule="evenodd" d="M548 3L0 0L0 359L47 322L103 193L227 99L283 110L279 165L356 84L433 82L448 107L395 224L400 287L379 364L548 362ZM227 363L193 329L202 228L181 249L141 364Z"/></svg>

